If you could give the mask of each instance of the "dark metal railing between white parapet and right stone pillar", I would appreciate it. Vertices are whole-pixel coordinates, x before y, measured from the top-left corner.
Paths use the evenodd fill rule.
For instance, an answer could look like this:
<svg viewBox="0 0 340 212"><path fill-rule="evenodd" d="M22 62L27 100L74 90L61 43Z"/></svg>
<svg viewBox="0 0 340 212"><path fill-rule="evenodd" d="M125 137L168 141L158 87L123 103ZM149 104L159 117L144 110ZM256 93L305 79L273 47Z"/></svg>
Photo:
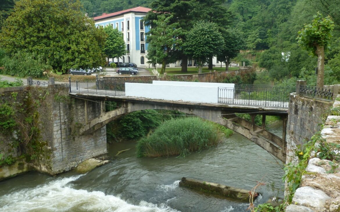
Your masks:
<svg viewBox="0 0 340 212"><path fill-rule="evenodd" d="M295 86L235 84L235 88L219 87L218 103L287 108L292 92Z"/></svg>

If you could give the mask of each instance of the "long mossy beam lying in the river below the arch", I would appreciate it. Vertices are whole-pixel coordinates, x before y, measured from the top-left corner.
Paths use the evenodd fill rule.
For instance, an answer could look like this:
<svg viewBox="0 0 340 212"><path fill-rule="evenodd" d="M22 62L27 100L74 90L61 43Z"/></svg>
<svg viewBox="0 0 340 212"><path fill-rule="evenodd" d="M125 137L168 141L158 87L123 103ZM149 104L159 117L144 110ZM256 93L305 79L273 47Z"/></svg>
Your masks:
<svg viewBox="0 0 340 212"><path fill-rule="evenodd" d="M230 186L221 185L213 182L205 182L201 180L195 180L192 178L183 177L180 181L180 186L189 187L192 189L198 189L201 191L222 194L227 197L241 199L245 201L249 201L251 198L251 191L247 191L245 189L238 189ZM253 195L253 199L258 196L258 193Z"/></svg>

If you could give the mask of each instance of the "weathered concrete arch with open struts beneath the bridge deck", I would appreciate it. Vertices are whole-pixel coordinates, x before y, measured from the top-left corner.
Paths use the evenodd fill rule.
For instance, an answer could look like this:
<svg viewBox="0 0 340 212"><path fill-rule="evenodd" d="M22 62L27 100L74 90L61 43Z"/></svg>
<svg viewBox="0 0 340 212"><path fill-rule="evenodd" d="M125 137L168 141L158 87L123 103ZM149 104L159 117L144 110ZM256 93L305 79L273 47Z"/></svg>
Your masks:
<svg viewBox="0 0 340 212"><path fill-rule="evenodd" d="M98 101L98 99L97 99ZM117 101L117 99L112 100ZM147 100L126 101L120 100L121 107L106 113L101 114L99 117L89 120L88 123L80 130L80 134L91 134L107 123L118 119L125 114L128 114L137 110L144 109L166 109L177 110L187 114L199 116L203 119L207 119L221 125L224 125L233 131L240 133L252 142L256 143L270 154L282 162L286 162L286 120L287 113L282 111L255 111L236 108L221 108L205 106L201 104L178 104L169 101L162 102L150 102ZM235 112L250 113L252 120L248 122L235 115ZM254 113L255 112L255 113ZM256 113L257 112L257 113ZM256 114L262 115L262 123L265 123L266 115L276 115L283 117L283 139L270 133L265 129L265 124L257 126L254 123Z"/></svg>

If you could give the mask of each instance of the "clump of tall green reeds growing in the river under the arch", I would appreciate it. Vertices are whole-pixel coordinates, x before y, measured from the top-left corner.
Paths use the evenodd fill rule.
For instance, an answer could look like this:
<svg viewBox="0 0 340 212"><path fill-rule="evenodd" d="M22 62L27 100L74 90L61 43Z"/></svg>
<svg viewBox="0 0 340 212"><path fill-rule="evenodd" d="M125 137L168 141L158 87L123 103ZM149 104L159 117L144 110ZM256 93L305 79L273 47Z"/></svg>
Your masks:
<svg viewBox="0 0 340 212"><path fill-rule="evenodd" d="M198 117L171 119L137 142L137 157L185 157L193 151L216 146L220 138L221 130L212 122Z"/></svg>

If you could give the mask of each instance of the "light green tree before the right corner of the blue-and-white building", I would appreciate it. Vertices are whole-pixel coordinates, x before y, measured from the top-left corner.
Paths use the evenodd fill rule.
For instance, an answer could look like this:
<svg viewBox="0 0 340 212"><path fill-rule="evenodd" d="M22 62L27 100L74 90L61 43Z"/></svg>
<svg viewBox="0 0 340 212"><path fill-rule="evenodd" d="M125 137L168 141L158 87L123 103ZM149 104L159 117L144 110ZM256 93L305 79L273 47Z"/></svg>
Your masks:
<svg viewBox="0 0 340 212"><path fill-rule="evenodd" d="M166 17L165 14L159 15L158 20L153 20L155 27L148 33L148 59L154 64L162 63L161 73L165 72L168 63L176 61L175 54L180 50L182 40L182 29L178 23L170 24L172 16Z"/></svg>

